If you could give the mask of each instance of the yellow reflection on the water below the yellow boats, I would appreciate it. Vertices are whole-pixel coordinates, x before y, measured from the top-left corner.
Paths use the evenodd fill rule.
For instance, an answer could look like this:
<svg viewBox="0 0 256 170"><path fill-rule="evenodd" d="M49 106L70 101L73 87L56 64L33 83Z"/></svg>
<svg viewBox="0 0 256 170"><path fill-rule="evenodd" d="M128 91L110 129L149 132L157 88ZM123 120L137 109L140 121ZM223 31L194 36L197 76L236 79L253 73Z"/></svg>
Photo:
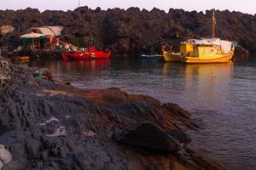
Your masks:
<svg viewBox="0 0 256 170"><path fill-rule="evenodd" d="M180 76L184 103L189 109L224 108L228 102L233 63L191 64L165 63L163 74ZM172 71L172 73L170 73ZM172 78L172 77L170 77Z"/></svg>

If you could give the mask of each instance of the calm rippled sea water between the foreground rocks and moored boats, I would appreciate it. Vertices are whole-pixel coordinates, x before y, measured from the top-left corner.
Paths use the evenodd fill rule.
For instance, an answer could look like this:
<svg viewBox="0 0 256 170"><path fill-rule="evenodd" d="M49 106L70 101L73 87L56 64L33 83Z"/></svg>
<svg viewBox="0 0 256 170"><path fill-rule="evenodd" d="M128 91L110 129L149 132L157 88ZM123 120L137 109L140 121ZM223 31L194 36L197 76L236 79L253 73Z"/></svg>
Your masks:
<svg viewBox="0 0 256 170"><path fill-rule="evenodd" d="M256 169L256 60L184 65L152 60L37 61L78 88L121 88L173 102L200 117L193 145L229 169Z"/></svg>

